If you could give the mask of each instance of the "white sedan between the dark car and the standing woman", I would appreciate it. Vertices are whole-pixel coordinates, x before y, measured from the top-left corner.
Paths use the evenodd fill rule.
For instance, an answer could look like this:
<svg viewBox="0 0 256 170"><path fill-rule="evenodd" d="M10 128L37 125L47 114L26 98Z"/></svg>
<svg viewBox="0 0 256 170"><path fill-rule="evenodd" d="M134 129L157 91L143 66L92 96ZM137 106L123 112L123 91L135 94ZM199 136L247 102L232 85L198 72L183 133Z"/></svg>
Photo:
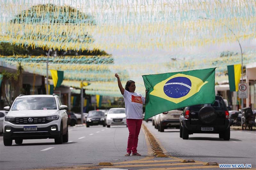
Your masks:
<svg viewBox="0 0 256 170"><path fill-rule="evenodd" d="M126 125L127 127L125 108L110 108L106 119L108 128L110 128L110 125Z"/></svg>

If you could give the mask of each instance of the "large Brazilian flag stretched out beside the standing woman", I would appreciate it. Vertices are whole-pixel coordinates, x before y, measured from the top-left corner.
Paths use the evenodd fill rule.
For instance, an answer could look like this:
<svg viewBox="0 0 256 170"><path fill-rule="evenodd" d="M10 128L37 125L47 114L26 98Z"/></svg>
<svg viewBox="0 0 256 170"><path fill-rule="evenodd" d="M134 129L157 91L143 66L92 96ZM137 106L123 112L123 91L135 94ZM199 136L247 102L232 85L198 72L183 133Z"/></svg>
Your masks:
<svg viewBox="0 0 256 170"><path fill-rule="evenodd" d="M148 91L145 119L215 101L215 68L143 75L142 78Z"/></svg>

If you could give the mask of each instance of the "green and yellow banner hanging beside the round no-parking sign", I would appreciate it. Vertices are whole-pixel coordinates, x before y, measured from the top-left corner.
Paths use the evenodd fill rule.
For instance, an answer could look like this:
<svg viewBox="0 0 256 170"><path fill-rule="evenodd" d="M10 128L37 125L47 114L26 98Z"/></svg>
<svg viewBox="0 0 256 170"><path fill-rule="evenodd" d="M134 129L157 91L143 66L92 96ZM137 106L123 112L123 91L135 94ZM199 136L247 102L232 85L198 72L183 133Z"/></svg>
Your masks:
<svg viewBox="0 0 256 170"><path fill-rule="evenodd" d="M230 92L238 91L238 84L241 78L241 64L228 65L228 83Z"/></svg>

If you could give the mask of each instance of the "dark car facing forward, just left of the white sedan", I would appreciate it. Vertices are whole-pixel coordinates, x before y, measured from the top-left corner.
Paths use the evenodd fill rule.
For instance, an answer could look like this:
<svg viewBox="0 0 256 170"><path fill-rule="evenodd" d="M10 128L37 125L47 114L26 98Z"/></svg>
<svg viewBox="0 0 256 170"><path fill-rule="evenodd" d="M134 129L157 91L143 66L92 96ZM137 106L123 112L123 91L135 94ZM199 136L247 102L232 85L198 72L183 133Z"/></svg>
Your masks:
<svg viewBox="0 0 256 170"><path fill-rule="evenodd" d="M93 125L103 125L106 126L105 113L99 110L92 110L88 112L86 117L86 127L89 128Z"/></svg>

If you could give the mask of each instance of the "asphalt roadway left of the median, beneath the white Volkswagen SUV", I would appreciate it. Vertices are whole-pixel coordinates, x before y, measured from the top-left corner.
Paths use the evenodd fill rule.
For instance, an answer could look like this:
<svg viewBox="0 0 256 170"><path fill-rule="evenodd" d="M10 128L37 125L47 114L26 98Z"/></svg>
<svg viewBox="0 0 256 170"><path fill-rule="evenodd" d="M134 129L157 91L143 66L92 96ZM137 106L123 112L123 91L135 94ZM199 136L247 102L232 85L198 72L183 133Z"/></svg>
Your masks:
<svg viewBox="0 0 256 170"><path fill-rule="evenodd" d="M133 160L125 157L128 139L126 126L69 127L69 141L54 144L54 139L23 140L23 143L4 146L0 137L0 169L34 169L60 166L97 165L99 162ZM148 154L141 129L138 152Z"/></svg>

